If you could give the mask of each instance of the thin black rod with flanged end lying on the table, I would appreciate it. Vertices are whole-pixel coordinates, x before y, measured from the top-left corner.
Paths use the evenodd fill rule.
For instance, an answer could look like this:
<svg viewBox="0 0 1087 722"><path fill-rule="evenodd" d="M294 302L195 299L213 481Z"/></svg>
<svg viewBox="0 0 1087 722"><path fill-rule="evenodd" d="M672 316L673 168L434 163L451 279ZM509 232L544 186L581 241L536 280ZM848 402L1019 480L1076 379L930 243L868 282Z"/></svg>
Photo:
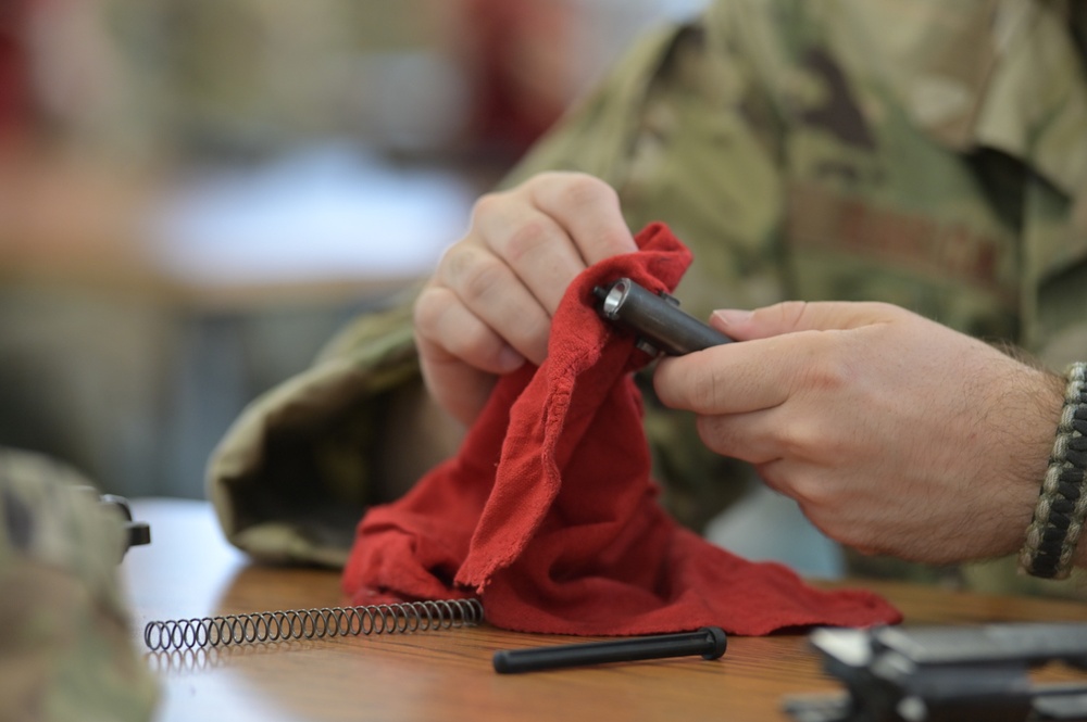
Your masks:
<svg viewBox="0 0 1087 722"><path fill-rule="evenodd" d="M495 653L495 671L500 674L584 667L605 662L632 662L701 655L717 659L725 654L728 638L720 626L703 626L697 632L659 634L608 642L587 642L553 647L505 649Z"/></svg>

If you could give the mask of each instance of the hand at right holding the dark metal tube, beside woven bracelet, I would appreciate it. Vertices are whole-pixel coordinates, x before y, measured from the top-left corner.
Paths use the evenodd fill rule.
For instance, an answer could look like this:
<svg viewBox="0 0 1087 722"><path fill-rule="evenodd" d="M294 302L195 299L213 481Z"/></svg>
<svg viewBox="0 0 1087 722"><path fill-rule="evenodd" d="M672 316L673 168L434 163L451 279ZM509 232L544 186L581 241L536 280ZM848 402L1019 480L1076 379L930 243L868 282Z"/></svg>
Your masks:
<svg viewBox="0 0 1087 722"><path fill-rule="evenodd" d="M824 533L946 563L1016 550L1063 381L878 303L715 312L744 343L663 360L654 385L714 452L753 464Z"/></svg>

